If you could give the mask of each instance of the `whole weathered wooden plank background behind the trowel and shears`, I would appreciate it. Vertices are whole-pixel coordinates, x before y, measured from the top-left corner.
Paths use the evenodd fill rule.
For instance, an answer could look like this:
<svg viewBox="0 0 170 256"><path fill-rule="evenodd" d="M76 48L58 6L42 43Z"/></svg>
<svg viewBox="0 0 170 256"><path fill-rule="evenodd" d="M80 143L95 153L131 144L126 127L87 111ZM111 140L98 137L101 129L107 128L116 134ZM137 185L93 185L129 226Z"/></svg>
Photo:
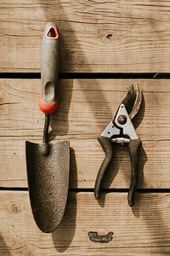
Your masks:
<svg viewBox="0 0 170 256"><path fill-rule="evenodd" d="M154 79L170 78L169 17L170 0L1 1L0 256L170 254L170 81ZM42 142L41 81L35 78L48 20L59 26L62 78L49 137L71 143L69 198L53 234L38 230L31 214L25 148L26 140ZM96 201L93 189L104 159L97 137L136 82L144 100L133 123L143 146L141 190L131 208L126 146L115 146L102 184L109 193ZM111 231L113 239L90 241L89 231Z"/></svg>

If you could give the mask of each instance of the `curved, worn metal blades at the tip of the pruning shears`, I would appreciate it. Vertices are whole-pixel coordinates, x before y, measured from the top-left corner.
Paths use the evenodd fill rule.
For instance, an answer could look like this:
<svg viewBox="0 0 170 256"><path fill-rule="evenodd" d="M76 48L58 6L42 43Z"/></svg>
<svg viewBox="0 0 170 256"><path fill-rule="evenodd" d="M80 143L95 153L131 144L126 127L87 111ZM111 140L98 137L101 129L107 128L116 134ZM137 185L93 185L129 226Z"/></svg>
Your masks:
<svg viewBox="0 0 170 256"><path fill-rule="evenodd" d="M125 105L127 109L127 113L130 119L133 119L136 113L139 112L141 102L142 102L142 92L139 89L139 84L138 83L136 83L135 85L132 84L127 92L127 96L122 101L122 103Z"/></svg>

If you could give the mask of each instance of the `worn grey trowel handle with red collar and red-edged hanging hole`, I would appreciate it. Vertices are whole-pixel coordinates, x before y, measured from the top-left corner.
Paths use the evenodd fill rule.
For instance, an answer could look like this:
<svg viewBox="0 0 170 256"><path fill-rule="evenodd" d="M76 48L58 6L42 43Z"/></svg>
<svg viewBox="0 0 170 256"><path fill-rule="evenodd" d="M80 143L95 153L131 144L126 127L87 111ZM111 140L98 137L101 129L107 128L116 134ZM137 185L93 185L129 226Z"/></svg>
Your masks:
<svg viewBox="0 0 170 256"><path fill-rule="evenodd" d="M39 108L43 113L53 113L58 107L59 32L54 22L45 26L41 55L41 96Z"/></svg>

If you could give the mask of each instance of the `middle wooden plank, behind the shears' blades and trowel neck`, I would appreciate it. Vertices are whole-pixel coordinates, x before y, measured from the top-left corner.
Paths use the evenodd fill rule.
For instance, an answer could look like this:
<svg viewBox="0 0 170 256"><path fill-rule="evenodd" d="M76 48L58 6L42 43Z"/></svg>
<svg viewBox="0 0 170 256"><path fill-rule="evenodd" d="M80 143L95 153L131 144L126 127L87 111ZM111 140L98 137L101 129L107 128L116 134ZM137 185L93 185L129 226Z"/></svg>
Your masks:
<svg viewBox="0 0 170 256"><path fill-rule="evenodd" d="M134 80L59 81L59 108L51 118L50 140L70 140L71 188L94 188L104 152L97 137L109 124ZM170 86L168 80L138 80L144 101L134 118L143 142L139 188L170 188ZM39 79L1 79L0 186L27 187L25 142L42 142L44 115L37 102ZM127 147L116 145L104 188L128 188Z"/></svg>

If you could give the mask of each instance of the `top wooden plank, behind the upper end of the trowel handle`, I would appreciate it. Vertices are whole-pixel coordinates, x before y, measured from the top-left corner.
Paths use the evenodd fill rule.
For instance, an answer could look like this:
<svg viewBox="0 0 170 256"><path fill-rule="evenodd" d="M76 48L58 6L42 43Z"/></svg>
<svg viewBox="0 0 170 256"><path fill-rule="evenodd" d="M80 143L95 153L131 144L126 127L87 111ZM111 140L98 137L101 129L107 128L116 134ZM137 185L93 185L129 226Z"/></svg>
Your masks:
<svg viewBox="0 0 170 256"><path fill-rule="evenodd" d="M1 72L39 72L42 32L59 26L61 72L170 70L170 1L1 1Z"/></svg>

